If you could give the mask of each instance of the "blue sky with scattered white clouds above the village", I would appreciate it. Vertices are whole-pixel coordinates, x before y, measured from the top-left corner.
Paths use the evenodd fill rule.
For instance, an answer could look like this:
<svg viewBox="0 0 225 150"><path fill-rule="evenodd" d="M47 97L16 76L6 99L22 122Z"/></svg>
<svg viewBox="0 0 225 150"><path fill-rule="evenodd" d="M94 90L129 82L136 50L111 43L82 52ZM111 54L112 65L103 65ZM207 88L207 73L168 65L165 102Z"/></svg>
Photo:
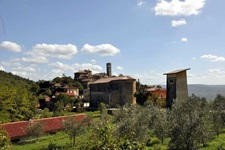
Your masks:
<svg viewBox="0 0 225 150"><path fill-rule="evenodd" d="M90 69L225 84L224 0L0 0L0 70L35 81Z"/></svg>

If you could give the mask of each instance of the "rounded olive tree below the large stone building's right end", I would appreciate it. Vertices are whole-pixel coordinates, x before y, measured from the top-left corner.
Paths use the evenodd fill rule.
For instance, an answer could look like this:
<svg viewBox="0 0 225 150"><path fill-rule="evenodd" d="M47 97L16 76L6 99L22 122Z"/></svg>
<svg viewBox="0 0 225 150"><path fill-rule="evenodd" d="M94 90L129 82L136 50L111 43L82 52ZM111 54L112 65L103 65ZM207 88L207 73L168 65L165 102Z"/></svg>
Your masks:
<svg viewBox="0 0 225 150"><path fill-rule="evenodd" d="M114 113L118 138L146 142L152 122L151 109L139 105L125 105Z"/></svg>

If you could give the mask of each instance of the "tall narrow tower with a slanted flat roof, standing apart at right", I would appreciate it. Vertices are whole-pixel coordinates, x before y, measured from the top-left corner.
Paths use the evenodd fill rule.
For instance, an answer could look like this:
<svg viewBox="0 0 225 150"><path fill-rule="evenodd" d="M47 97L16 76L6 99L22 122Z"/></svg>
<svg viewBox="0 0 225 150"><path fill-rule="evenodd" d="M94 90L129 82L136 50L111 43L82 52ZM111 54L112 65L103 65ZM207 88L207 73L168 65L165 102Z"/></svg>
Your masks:
<svg viewBox="0 0 225 150"><path fill-rule="evenodd" d="M166 107L172 108L173 101L175 99L182 99L188 97L188 85L187 85L187 69L175 70L172 72L164 73L167 75L166 81Z"/></svg>

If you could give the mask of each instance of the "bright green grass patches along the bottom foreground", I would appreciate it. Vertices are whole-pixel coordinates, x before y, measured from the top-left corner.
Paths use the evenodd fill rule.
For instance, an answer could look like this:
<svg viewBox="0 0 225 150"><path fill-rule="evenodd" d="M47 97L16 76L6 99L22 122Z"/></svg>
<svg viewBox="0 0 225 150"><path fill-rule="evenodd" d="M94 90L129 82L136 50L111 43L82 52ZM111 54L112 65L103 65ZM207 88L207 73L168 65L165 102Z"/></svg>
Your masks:
<svg viewBox="0 0 225 150"><path fill-rule="evenodd" d="M91 118L99 118L100 112L85 112ZM76 146L71 148L71 140L68 135L64 132L57 132L56 134L46 135L40 137L37 141L36 139L31 141L26 141L24 143L13 144L8 150L48 150L52 148L57 149L84 149L84 147L91 146L92 141L92 132L90 129L89 132L85 132L85 134L77 136L76 138ZM169 139L166 139L164 144L157 138L152 138L149 147L149 150L166 150ZM206 147L200 148L201 150L225 150L225 132L220 134L218 137L215 136L210 142L206 144Z"/></svg>

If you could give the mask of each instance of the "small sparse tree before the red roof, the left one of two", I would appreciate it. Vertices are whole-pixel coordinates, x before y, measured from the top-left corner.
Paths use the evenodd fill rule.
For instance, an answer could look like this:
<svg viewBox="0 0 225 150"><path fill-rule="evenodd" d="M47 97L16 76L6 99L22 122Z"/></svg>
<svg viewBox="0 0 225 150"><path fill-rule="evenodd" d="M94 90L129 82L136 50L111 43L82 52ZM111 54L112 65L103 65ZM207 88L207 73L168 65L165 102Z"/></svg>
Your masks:
<svg viewBox="0 0 225 150"><path fill-rule="evenodd" d="M37 140L44 134L43 123L41 121L30 120L25 130L28 135L36 137Z"/></svg>

